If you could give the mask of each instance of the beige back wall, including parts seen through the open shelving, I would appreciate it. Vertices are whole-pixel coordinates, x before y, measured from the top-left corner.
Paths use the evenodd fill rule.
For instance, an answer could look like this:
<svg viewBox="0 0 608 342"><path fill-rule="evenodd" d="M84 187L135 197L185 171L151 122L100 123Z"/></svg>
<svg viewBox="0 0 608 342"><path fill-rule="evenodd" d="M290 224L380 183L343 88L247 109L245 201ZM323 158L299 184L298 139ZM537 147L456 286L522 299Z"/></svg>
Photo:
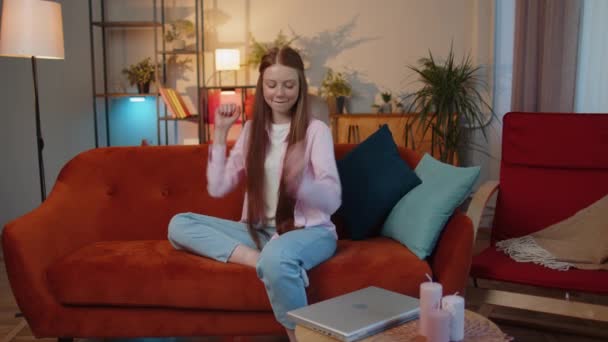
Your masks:
<svg viewBox="0 0 608 342"><path fill-rule="evenodd" d="M174 19L194 21L193 0L165 3L169 8L166 22ZM153 17L150 0L107 0L106 8L106 20L150 20ZM458 59L470 54L472 62L482 67L488 89L493 87L493 1L212 0L204 1L204 28L204 81L207 85L218 85L220 76L223 76L223 85L233 84L235 76L239 85L255 84L257 71L251 67L243 66L236 75L215 73L215 49L241 50L244 64L250 37L269 42L282 31L290 37L298 37L293 45L305 55L313 92L320 86L328 68L347 74L354 88L347 105L350 112L369 113L371 105L379 101L381 91L391 91L395 96L410 93L417 84L407 66L428 56L429 50L441 60L452 44ZM110 91L130 88L119 71L122 66L154 55L153 31L108 32ZM96 41L99 45L98 36ZM101 87L100 70L98 68L98 87ZM167 85L196 98L196 78L192 73L178 75L177 80L170 77ZM486 95L491 103L490 93ZM105 126L105 122L100 122L100 126ZM195 139L196 125L172 122L169 136L170 143Z"/></svg>

